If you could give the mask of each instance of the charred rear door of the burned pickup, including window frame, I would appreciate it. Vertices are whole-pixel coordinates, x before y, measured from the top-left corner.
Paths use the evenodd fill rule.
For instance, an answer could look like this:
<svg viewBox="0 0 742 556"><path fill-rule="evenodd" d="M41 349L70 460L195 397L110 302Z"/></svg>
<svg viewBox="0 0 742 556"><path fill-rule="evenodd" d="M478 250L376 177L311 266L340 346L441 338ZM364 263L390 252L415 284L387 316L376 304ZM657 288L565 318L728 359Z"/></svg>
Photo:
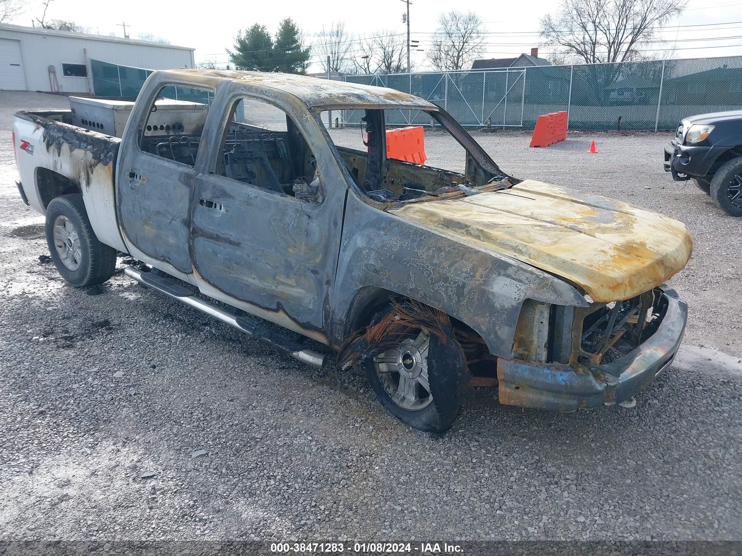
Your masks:
<svg viewBox="0 0 742 556"><path fill-rule="evenodd" d="M208 116L205 107L196 104L187 113L177 110L162 116L155 102L177 94L177 87L211 95L217 83L167 72L150 76L129 116L116 165L116 210L125 241L151 257L147 262L166 262L183 274L192 274L190 205L194 168L204 156L199 155L199 149L205 150L200 145L208 139L203 128ZM162 122L161 131L153 125L156 121ZM183 134L186 131L188 135Z"/></svg>

